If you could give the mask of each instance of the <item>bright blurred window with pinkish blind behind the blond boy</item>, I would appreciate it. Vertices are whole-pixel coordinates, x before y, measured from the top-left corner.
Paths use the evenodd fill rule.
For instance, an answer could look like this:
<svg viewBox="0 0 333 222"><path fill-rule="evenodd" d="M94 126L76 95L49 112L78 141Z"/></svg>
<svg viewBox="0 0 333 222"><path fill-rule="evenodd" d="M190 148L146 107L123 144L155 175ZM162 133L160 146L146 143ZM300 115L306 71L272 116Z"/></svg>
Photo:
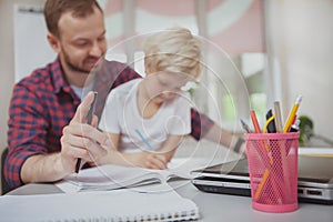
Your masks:
<svg viewBox="0 0 333 222"><path fill-rule="evenodd" d="M240 130L250 108L266 109L263 3L260 0L104 0L110 56L144 75L142 41L152 31L185 27L204 42L196 109L223 128ZM263 114L259 113L259 117Z"/></svg>

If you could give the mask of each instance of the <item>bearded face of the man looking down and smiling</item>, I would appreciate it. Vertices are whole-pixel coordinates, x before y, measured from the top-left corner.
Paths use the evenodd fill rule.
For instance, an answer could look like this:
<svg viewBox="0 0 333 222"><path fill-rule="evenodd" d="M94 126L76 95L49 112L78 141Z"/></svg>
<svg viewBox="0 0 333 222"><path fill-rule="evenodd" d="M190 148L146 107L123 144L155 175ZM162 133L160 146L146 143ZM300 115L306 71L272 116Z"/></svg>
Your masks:
<svg viewBox="0 0 333 222"><path fill-rule="evenodd" d="M97 8L94 13L84 18L67 12L60 18L58 26L58 52L63 68L89 74L107 51L103 14Z"/></svg>

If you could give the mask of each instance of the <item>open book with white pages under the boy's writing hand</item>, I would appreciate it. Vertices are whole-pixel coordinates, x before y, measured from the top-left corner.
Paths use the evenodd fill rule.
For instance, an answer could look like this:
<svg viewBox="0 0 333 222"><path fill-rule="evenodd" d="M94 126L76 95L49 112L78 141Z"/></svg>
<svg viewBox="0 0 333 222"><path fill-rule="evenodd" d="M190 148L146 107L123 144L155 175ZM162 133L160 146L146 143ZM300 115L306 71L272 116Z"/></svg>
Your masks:
<svg viewBox="0 0 333 222"><path fill-rule="evenodd" d="M63 192L79 192L89 190L113 190L133 188L151 183L165 183L172 178L192 179L190 172L206 167L205 159L172 159L167 170L150 170L122 165L100 165L81 170L78 175L68 175L56 183Z"/></svg>

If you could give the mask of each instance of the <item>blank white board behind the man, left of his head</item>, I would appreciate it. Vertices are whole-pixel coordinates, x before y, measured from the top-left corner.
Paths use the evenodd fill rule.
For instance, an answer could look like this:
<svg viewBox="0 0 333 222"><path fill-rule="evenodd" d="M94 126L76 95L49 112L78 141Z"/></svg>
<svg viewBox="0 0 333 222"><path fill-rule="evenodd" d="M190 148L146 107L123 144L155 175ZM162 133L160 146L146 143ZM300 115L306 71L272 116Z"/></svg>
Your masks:
<svg viewBox="0 0 333 222"><path fill-rule="evenodd" d="M16 82L34 69L56 59L47 40L42 7L14 4L14 74Z"/></svg>

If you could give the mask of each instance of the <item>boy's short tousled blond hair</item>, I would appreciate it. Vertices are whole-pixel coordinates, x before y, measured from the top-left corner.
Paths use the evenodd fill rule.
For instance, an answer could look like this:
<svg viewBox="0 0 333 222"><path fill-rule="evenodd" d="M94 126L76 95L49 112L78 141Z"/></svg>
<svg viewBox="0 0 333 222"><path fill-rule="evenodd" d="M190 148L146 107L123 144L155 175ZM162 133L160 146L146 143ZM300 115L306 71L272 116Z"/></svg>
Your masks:
<svg viewBox="0 0 333 222"><path fill-rule="evenodd" d="M201 42L185 28L172 28L149 37L144 43L144 63L151 71L200 74Z"/></svg>

